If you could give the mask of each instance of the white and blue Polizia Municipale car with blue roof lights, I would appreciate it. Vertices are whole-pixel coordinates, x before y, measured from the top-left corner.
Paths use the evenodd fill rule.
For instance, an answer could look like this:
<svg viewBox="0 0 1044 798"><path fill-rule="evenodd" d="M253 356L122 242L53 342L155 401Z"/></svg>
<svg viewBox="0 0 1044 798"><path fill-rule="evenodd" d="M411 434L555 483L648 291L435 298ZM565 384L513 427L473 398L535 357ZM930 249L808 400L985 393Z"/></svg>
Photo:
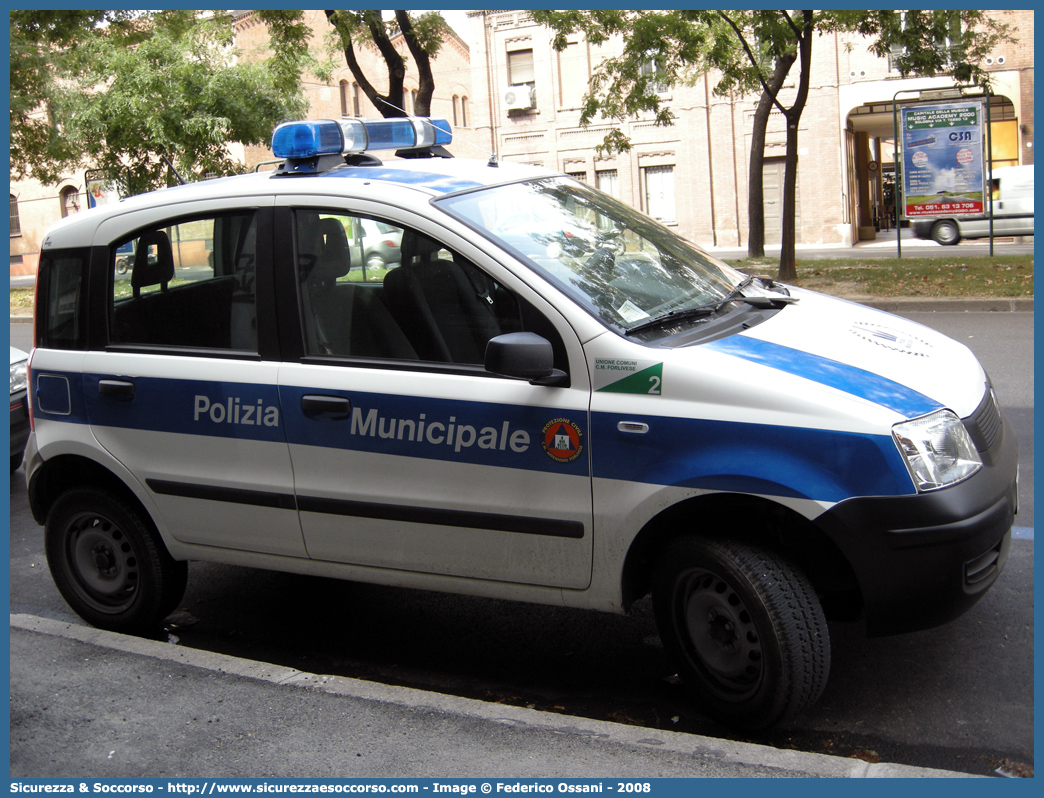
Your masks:
<svg viewBox="0 0 1044 798"><path fill-rule="evenodd" d="M758 728L822 693L828 617L923 629L994 584L1018 455L968 349L450 140L287 123L275 171L50 229L25 472L84 618L157 628L190 560L610 612L651 592L698 702Z"/></svg>

